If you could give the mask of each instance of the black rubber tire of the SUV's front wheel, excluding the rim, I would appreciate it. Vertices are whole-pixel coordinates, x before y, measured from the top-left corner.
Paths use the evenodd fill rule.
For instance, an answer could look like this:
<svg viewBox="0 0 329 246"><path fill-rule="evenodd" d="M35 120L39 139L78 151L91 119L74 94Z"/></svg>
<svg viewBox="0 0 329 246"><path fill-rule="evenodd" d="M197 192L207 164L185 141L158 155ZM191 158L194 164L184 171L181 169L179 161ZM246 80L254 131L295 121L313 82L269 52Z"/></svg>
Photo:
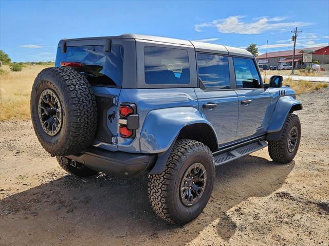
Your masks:
<svg viewBox="0 0 329 246"><path fill-rule="evenodd" d="M293 127L297 127L297 143L293 152L288 150L289 133ZM279 140L268 141L268 153L273 161L279 163L288 163L292 161L298 151L301 137L301 125L297 115L289 113L287 119L283 125L281 137Z"/></svg>

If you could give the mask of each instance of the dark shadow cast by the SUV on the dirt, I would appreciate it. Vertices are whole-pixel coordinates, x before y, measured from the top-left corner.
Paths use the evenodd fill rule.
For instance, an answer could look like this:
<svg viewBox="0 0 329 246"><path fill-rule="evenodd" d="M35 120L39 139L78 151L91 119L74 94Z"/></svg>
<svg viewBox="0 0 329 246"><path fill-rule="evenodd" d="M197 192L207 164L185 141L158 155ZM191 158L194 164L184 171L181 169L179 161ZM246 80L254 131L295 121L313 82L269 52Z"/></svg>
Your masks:
<svg viewBox="0 0 329 246"><path fill-rule="evenodd" d="M228 240L236 225L227 211L249 197L276 191L294 165L247 156L216 167L206 209L185 226L154 214L145 176L105 181L69 175L1 200L0 244L182 245L214 220L218 236Z"/></svg>

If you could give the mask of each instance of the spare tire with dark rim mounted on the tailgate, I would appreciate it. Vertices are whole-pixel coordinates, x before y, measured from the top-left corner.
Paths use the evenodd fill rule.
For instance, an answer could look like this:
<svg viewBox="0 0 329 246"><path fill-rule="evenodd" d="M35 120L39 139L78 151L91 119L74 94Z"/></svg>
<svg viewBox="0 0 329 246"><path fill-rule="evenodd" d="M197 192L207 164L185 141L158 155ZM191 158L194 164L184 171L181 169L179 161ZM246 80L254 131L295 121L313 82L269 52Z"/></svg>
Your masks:
<svg viewBox="0 0 329 246"><path fill-rule="evenodd" d="M41 145L53 156L86 149L97 130L96 97L86 77L71 68L43 69L31 92L31 119Z"/></svg>

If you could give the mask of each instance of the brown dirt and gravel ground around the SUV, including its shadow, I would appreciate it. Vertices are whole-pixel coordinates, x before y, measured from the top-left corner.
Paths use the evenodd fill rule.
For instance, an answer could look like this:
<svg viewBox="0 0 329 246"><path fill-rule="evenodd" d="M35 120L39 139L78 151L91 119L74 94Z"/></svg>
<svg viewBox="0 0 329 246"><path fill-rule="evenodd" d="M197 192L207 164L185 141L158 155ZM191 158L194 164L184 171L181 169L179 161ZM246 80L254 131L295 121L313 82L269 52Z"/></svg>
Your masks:
<svg viewBox="0 0 329 246"><path fill-rule="evenodd" d="M289 164L267 148L216 167L204 212L185 226L152 211L147 177L67 175L30 121L0 123L0 245L328 245L329 89L298 97L302 140Z"/></svg>

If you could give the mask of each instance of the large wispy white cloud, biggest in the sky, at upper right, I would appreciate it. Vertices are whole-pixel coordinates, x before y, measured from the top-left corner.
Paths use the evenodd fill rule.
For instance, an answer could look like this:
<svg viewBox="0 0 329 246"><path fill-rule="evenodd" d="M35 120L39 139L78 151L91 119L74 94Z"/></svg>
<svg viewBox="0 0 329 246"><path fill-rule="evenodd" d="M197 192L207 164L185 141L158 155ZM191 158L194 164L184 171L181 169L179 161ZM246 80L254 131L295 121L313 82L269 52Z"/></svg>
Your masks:
<svg viewBox="0 0 329 246"><path fill-rule="evenodd" d="M244 16L241 15L229 16L225 19L196 24L194 28L197 32L202 31L204 27L216 27L222 33L259 34L270 30L312 25L306 22L282 22L285 17L259 17L252 22L243 22L243 18Z"/></svg>

